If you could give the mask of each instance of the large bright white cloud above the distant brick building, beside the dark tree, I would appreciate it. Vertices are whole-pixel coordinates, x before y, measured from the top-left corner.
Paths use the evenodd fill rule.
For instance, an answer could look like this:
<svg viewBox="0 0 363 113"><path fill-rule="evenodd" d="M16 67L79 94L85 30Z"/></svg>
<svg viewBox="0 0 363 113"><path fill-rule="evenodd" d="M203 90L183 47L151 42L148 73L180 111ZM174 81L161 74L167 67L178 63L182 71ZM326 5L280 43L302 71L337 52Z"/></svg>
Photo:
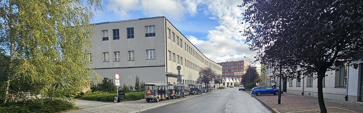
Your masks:
<svg viewBox="0 0 363 113"><path fill-rule="evenodd" d="M198 46L205 56L215 62L248 60L244 56L251 62L255 60L253 55L256 55L256 52L249 50L248 45L244 43L246 37L239 33L247 26L240 24L242 22L240 14L244 11L243 8L237 7L240 3L240 0L228 3L211 0L201 3L207 5L208 9L205 10L213 15L209 19L218 20L220 25L216 26L214 30L208 31L205 41L194 36L187 36L189 41Z"/></svg>

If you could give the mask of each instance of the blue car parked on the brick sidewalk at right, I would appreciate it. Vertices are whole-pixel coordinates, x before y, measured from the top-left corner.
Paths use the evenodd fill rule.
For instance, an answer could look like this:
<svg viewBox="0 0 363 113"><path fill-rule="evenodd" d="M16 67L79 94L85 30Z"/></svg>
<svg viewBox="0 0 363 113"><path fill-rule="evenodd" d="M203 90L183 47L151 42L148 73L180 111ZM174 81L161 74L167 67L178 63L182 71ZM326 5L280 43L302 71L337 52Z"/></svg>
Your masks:
<svg viewBox="0 0 363 113"><path fill-rule="evenodd" d="M252 95L257 95L257 96L266 95L266 94L278 95L278 91L280 91L281 94L284 93L279 89L275 89L268 86L254 87L251 93Z"/></svg>

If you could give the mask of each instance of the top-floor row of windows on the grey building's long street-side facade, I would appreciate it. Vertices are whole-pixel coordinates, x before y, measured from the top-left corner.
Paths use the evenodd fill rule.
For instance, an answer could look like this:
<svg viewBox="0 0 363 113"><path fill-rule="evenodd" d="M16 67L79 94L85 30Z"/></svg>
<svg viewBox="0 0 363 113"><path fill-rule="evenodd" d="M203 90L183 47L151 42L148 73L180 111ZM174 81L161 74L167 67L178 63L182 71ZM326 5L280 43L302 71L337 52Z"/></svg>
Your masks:
<svg viewBox="0 0 363 113"><path fill-rule="evenodd" d="M168 28L168 38L171 39L173 42L175 42L177 45L179 45L181 48L183 48L183 39L181 39L178 35L175 35L174 32L172 32ZM200 62L204 63L205 65L215 68L217 70L221 70L220 67L216 66L215 64L209 63L207 60L205 60L201 55L198 54L197 51L195 51L191 46L187 45L186 42L184 42L184 50L187 51L189 54L193 55L195 58L200 60Z"/></svg>

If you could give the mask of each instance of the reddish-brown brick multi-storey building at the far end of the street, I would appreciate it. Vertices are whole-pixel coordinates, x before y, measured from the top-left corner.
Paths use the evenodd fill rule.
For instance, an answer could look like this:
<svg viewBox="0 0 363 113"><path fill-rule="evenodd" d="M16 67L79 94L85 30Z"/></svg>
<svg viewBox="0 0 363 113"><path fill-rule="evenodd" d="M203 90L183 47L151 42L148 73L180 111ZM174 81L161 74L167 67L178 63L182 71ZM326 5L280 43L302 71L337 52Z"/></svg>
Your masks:
<svg viewBox="0 0 363 113"><path fill-rule="evenodd" d="M243 74L245 74L246 70L245 67L248 67L247 60L239 60L239 61L227 61L218 63L222 66L222 77L228 78L241 78Z"/></svg>

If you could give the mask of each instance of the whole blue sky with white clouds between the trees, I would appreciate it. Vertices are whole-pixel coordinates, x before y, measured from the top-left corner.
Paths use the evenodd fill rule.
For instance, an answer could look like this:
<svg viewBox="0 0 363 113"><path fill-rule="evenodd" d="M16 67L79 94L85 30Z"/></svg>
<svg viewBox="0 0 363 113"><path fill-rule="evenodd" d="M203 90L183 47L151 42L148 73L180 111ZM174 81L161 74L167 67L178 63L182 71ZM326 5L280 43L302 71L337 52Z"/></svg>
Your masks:
<svg viewBox="0 0 363 113"><path fill-rule="evenodd" d="M207 58L216 63L247 60L256 51L245 44L239 31L245 8L242 0L105 0L94 23L165 16ZM245 22L244 22L245 23ZM255 64L259 66L259 64Z"/></svg>

